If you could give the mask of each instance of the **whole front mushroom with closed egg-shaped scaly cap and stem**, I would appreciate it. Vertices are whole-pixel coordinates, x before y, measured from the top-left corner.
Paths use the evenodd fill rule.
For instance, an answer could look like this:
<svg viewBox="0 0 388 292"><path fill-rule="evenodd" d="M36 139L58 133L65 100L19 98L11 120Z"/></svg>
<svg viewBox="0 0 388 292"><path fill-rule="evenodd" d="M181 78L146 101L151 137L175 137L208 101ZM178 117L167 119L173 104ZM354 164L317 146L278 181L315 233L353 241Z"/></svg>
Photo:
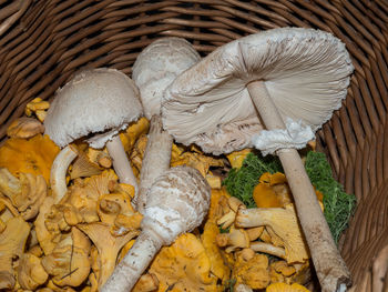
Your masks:
<svg viewBox="0 0 388 292"><path fill-rule="evenodd" d="M195 169L176 167L160 175L149 191L141 234L101 291L130 291L162 245L202 223L210 199L211 188Z"/></svg>

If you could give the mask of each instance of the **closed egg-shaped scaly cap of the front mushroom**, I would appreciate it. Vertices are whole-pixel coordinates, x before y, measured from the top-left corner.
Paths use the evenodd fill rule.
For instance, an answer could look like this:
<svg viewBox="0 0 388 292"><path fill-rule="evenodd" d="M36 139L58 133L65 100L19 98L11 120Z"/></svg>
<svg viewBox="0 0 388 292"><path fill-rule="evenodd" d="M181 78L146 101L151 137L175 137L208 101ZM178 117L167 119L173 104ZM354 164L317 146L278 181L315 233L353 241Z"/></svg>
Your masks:
<svg viewBox="0 0 388 292"><path fill-rule="evenodd" d="M142 229L149 225L171 244L177 235L191 232L204 220L211 187L200 171L175 167L160 175L149 191Z"/></svg>

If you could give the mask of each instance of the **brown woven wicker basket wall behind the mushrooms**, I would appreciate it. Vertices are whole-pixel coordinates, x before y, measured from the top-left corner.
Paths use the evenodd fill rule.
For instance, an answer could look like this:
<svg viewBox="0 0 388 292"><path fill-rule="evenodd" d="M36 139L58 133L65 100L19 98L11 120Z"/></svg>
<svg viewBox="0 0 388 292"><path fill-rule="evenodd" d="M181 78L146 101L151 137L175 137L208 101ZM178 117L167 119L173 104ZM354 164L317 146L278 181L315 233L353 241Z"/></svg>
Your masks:
<svg viewBox="0 0 388 292"><path fill-rule="evenodd" d="M341 39L355 73L344 107L317 141L336 179L358 199L340 245L356 290L371 291L370 266L388 243L387 0L2 0L0 8L0 140L31 99L52 98L85 67L131 74L137 53L156 38L183 37L203 56L278 27L313 27Z"/></svg>

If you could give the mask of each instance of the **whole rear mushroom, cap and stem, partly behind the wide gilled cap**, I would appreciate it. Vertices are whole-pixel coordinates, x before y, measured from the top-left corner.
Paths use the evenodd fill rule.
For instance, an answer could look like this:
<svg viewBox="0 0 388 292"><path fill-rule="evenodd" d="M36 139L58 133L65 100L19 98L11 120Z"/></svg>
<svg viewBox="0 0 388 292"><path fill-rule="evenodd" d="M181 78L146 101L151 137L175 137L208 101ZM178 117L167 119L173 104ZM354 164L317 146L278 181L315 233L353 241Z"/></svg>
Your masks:
<svg viewBox="0 0 388 292"><path fill-rule="evenodd" d="M184 70L201 59L192 44L181 38L163 38L147 46L133 64L132 78L141 92L144 115L151 120L149 141L134 203L144 211L146 193L155 179L170 168L173 139L162 128L160 107L164 90Z"/></svg>

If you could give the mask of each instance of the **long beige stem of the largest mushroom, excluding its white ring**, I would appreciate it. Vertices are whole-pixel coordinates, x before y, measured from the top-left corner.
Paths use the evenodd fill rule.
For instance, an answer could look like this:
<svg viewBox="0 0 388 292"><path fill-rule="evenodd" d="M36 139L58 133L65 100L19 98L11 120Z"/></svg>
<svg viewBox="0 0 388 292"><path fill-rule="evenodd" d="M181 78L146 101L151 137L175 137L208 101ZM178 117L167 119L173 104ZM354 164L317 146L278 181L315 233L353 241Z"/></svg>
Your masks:
<svg viewBox="0 0 388 292"><path fill-rule="evenodd" d="M247 84L253 103L268 130L285 129L283 119L262 81ZM277 151L294 195L298 219L306 236L323 292L350 284L350 273L333 240L312 182L296 149Z"/></svg>

